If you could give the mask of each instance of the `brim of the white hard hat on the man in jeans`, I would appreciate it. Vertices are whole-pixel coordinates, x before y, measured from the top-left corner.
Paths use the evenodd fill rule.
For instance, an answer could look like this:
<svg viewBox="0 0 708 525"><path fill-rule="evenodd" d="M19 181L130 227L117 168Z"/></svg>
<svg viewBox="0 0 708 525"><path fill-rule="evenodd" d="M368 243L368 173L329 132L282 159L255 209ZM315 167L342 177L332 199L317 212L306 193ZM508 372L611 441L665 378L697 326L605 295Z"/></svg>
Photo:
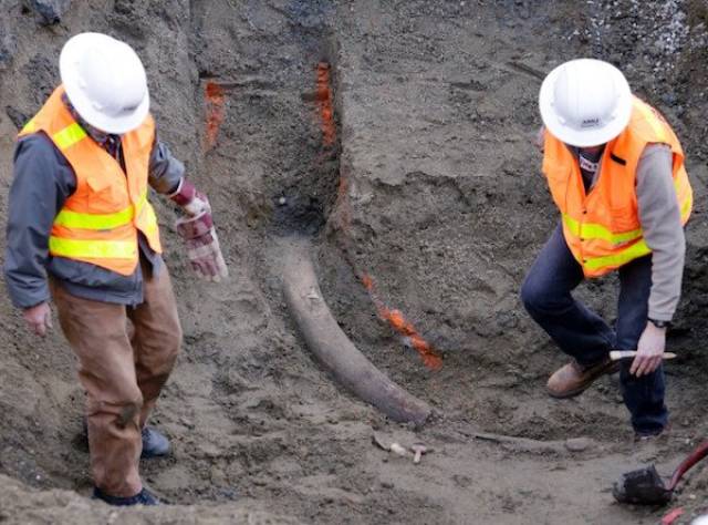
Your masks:
<svg viewBox="0 0 708 525"><path fill-rule="evenodd" d="M611 74L615 75L615 84L620 89L615 117L600 128L574 130L561 122L553 107L555 81L563 65L559 65L548 74L539 92L539 109L545 128L558 140L577 147L598 146L620 135L629 123L629 117L632 116L632 90L622 72L614 66L612 68Z"/></svg>

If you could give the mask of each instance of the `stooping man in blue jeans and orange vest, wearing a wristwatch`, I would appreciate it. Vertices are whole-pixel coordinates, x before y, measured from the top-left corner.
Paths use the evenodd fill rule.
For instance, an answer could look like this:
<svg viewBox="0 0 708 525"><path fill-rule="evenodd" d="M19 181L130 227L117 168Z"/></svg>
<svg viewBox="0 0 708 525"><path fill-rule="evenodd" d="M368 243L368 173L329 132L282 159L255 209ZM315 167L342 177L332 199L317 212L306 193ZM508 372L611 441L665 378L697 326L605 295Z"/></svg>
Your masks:
<svg viewBox="0 0 708 525"><path fill-rule="evenodd" d="M664 117L634 96L616 68L573 60L540 92L543 173L561 212L521 288L531 317L572 360L548 392L571 398L620 369L638 440L666 428L662 357L680 297L684 225L691 187L684 152ZM618 270L617 320L610 327L571 292ZM613 349L633 360L610 360Z"/></svg>

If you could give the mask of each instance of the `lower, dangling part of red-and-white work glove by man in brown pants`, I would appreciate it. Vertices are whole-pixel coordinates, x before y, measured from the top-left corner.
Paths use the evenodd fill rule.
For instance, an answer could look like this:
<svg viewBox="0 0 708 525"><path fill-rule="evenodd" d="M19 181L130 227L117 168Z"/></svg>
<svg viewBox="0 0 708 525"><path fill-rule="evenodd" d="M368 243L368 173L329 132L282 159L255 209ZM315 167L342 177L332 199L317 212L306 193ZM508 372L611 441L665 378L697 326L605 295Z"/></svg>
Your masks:
<svg viewBox="0 0 708 525"><path fill-rule="evenodd" d="M229 276L209 212L205 210L196 217L180 218L175 226L187 245L191 269L199 277L219 282Z"/></svg>

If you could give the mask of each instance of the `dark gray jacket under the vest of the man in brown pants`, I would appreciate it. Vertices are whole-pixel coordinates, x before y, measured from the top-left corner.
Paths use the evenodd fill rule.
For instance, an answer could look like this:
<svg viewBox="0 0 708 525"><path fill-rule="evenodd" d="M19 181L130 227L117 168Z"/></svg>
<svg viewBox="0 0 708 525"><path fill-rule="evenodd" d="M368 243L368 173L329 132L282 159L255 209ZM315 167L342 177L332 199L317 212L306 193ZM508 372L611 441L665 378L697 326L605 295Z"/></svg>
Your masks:
<svg viewBox="0 0 708 525"><path fill-rule="evenodd" d="M185 167L155 138L149 159L149 184L169 194ZM48 274L70 294L119 305L143 302L140 265L122 276L88 262L49 254L52 224L64 202L76 191L76 175L54 143L43 133L20 138L14 151L14 177L10 188L4 277L12 303L29 308L50 299ZM139 236L140 259L152 272L163 264Z"/></svg>

